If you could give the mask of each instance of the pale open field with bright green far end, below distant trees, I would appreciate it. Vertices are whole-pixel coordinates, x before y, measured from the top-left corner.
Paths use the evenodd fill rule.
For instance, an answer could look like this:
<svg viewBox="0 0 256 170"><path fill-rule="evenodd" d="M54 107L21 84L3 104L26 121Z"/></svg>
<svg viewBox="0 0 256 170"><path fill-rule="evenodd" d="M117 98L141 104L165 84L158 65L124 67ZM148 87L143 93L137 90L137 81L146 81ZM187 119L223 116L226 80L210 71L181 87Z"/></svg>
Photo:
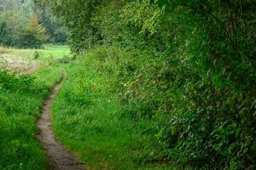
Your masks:
<svg viewBox="0 0 256 170"><path fill-rule="evenodd" d="M60 45L46 44L42 49L0 47L0 67L2 70L5 68L8 71L31 74L55 63L65 63L70 55L68 46Z"/></svg>

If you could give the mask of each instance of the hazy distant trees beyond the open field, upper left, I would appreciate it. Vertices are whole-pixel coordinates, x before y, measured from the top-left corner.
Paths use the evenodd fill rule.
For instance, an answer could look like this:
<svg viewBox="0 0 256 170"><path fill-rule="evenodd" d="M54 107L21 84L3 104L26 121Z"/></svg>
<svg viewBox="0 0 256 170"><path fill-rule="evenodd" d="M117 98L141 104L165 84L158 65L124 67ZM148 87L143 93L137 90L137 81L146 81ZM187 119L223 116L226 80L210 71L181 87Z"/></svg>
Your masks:
<svg viewBox="0 0 256 170"><path fill-rule="evenodd" d="M32 0L0 0L0 45L40 48L44 42L66 42L67 29L49 7Z"/></svg>

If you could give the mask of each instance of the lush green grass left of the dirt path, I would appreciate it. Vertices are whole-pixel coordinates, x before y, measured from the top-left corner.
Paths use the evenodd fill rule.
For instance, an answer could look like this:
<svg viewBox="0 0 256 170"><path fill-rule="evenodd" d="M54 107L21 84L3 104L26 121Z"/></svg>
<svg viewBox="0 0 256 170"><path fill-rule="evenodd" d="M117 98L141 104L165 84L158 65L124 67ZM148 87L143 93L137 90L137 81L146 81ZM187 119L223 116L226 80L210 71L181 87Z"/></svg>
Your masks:
<svg viewBox="0 0 256 170"><path fill-rule="evenodd" d="M18 51L12 49L9 53ZM42 67L30 77L0 71L0 169L46 169L44 150L35 139L36 122L61 71L55 65Z"/></svg>

